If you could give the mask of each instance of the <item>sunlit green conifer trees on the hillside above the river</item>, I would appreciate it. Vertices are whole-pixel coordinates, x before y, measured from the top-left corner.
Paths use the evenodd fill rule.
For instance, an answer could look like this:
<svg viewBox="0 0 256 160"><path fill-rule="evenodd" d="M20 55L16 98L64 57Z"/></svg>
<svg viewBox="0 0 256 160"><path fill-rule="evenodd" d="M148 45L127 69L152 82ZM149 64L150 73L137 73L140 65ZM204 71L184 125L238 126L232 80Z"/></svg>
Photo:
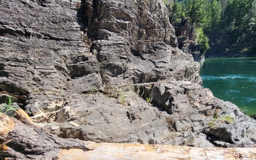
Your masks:
<svg viewBox="0 0 256 160"><path fill-rule="evenodd" d="M208 38L202 33L218 31L228 34L230 46L245 44L241 52L256 49L255 0L174 0L169 10L171 21L180 23L181 18L188 18L196 34L201 32L197 42L202 52L209 48Z"/></svg>

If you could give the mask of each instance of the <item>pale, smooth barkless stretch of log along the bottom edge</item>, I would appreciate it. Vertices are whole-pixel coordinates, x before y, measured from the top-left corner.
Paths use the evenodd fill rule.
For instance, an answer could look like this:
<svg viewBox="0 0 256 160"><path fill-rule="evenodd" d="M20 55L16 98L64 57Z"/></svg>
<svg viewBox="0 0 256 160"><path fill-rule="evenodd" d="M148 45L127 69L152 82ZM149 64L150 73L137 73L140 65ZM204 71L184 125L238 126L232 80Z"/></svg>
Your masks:
<svg viewBox="0 0 256 160"><path fill-rule="evenodd" d="M63 149L59 159L256 159L255 148L196 148L142 144L95 144L95 149Z"/></svg>

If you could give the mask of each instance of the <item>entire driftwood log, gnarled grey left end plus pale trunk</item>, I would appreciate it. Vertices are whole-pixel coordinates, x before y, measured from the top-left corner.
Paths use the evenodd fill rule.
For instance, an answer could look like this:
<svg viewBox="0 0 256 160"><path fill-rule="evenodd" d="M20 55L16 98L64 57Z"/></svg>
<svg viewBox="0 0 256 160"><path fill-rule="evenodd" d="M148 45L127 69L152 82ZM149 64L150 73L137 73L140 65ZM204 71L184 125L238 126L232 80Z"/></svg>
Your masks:
<svg viewBox="0 0 256 160"><path fill-rule="evenodd" d="M23 114L19 112L20 114ZM256 159L256 148L107 144L62 139L0 113L0 159Z"/></svg>

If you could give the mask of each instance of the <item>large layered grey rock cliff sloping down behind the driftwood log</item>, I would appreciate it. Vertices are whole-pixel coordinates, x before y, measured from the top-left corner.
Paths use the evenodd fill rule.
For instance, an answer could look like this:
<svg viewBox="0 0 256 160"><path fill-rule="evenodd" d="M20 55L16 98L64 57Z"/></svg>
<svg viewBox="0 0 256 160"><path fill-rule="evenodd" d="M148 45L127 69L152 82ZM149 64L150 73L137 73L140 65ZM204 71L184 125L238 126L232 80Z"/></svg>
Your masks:
<svg viewBox="0 0 256 160"><path fill-rule="evenodd" d="M203 88L161 0L0 1L0 89L59 137L254 146L255 119Z"/></svg>

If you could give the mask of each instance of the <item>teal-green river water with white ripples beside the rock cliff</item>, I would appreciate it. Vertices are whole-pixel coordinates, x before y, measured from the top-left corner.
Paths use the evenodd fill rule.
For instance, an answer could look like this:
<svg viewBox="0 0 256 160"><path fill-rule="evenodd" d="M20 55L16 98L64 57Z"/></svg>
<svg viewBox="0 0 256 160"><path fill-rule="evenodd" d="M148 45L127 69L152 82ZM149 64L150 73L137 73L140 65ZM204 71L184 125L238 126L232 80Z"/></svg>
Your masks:
<svg viewBox="0 0 256 160"><path fill-rule="evenodd" d="M256 58L206 58L201 77L215 97L256 114Z"/></svg>

